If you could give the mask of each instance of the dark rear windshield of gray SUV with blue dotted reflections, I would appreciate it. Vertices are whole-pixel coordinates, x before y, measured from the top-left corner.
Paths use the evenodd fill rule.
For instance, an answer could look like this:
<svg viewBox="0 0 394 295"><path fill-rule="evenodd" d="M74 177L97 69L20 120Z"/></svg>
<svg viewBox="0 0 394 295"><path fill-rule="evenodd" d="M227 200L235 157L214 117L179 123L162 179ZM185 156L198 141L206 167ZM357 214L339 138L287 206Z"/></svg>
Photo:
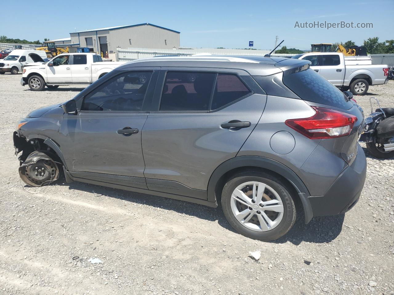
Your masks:
<svg viewBox="0 0 394 295"><path fill-rule="evenodd" d="M283 83L303 100L348 110L353 106L343 92L312 69L283 76Z"/></svg>

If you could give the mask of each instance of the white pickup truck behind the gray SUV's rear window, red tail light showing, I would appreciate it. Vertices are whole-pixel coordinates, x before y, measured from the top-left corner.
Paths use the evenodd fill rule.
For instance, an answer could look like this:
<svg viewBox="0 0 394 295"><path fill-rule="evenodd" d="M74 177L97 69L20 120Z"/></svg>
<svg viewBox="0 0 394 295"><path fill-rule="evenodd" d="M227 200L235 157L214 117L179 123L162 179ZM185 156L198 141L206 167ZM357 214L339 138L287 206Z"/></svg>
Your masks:
<svg viewBox="0 0 394 295"><path fill-rule="evenodd" d="M369 62L362 58L349 59L338 52L310 52L292 58L310 61L310 68L342 91L350 90L354 95L364 95L369 85L388 83L388 65L366 65Z"/></svg>

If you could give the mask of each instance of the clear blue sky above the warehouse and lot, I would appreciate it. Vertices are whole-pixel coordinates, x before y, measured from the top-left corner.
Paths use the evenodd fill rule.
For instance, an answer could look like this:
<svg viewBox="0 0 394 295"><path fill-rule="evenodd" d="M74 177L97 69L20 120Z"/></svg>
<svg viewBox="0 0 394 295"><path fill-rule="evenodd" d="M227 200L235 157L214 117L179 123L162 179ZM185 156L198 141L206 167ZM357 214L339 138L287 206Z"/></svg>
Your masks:
<svg viewBox="0 0 394 295"><path fill-rule="evenodd" d="M31 3L4 1L0 35L43 41L69 37L75 28L82 31L149 22L180 31L181 46L191 47L245 48L254 41L256 49L272 49L276 35L285 40L282 45L298 49L309 49L311 43L319 42L352 40L360 45L368 37L379 37L380 41L394 38L394 0L68 0L45 2L50 4L41 7L42 11L36 5L34 10L20 9ZM294 28L296 21L372 22L374 28L301 29Z"/></svg>

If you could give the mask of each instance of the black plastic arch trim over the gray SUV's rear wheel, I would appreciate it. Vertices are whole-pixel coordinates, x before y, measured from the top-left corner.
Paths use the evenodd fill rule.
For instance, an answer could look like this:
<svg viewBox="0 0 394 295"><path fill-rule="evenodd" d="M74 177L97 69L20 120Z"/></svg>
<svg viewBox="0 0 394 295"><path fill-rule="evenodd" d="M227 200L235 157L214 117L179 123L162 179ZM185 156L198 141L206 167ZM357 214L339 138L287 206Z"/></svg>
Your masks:
<svg viewBox="0 0 394 295"><path fill-rule="evenodd" d="M313 217L312 207L310 206L310 202L308 197L310 197L309 191L303 181L297 176L294 171L292 171L287 166L265 157L260 156L239 156L229 159L222 164L220 164L215 171L212 173L209 182L208 182L208 189L207 189L207 197L208 201L216 202L215 196L215 189L216 184L219 179L225 175L225 173L242 167L256 167L256 168L263 168L266 170L271 170L282 177L292 184L292 186L296 189L299 199L304 208L305 213L305 223L309 223L310 219Z"/></svg>

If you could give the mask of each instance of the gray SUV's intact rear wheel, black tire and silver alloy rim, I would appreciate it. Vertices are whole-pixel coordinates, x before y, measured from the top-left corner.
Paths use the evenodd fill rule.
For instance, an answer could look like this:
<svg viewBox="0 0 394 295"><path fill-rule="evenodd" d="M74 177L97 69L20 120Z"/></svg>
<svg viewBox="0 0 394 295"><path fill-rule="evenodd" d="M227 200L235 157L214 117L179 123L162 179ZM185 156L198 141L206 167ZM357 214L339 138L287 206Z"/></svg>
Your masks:
<svg viewBox="0 0 394 295"><path fill-rule="evenodd" d="M286 184L261 171L234 175L223 188L221 202L230 225L257 240L280 238L296 220L296 208Z"/></svg>

